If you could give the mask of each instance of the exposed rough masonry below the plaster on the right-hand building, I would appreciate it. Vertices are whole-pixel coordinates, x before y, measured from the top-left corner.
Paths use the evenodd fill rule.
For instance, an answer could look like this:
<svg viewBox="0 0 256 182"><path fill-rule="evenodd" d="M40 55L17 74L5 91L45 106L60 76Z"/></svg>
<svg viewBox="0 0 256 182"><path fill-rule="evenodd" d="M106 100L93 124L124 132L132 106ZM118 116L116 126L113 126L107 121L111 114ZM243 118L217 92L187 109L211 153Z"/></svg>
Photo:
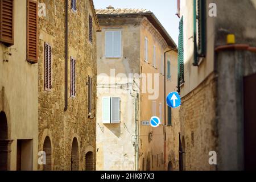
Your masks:
<svg viewBox="0 0 256 182"><path fill-rule="evenodd" d="M181 98L180 123L185 170L215 170L209 152L217 152L216 84L210 74L196 89Z"/></svg>

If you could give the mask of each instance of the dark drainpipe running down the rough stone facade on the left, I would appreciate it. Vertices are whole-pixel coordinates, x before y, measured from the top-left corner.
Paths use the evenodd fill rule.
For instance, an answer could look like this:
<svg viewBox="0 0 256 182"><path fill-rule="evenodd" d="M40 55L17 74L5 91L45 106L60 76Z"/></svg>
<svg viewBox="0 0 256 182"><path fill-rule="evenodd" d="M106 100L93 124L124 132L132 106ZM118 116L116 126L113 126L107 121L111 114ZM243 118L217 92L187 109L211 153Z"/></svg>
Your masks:
<svg viewBox="0 0 256 182"><path fill-rule="evenodd" d="M65 1L65 108L68 110L68 0Z"/></svg>

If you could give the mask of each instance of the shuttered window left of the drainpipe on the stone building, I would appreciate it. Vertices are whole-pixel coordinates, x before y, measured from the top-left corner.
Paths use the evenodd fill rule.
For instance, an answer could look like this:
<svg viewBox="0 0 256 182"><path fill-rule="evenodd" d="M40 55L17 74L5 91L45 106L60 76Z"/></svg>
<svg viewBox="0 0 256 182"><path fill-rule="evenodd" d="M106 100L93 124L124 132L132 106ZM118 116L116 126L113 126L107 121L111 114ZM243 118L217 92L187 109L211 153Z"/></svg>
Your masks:
<svg viewBox="0 0 256 182"><path fill-rule="evenodd" d="M44 89L52 89L52 47L44 43Z"/></svg>

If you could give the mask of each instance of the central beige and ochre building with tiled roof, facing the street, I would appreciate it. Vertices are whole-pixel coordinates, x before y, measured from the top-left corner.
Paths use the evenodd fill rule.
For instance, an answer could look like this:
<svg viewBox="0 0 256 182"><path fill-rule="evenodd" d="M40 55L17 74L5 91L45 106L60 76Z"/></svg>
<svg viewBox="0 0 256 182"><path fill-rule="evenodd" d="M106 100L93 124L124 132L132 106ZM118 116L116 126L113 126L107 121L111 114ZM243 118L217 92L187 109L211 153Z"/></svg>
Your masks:
<svg viewBox="0 0 256 182"><path fill-rule="evenodd" d="M167 62L171 60L171 69L177 69L174 64L176 45L150 11L114 9L109 6L96 12L102 30L97 33L97 170L167 169L168 152L175 149L169 150L168 147L173 147L173 143L167 144L164 139L165 134L171 137L172 130L172 126L168 126L168 131L165 130L167 117L164 122L164 111L166 116L168 114L167 109L164 110L164 79L166 90L175 90L176 79L167 80ZM115 51L108 49L108 45L112 45ZM168 50L171 51L166 53L164 76L164 52ZM146 52L147 59L144 56ZM148 74L148 77L143 77L143 74ZM151 85L151 78L159 85ZM146 84L155 93L143 90ZM112 107L115 104L108 104L113 98L119 100L117 108ZM117 120L108 119L105 113L109 112L107 106L111 114L118 113ZM150 121L153 113L162 122L154 129L142 124L143 121ZM178 121L175 131L178 146ZM152 136L150 141L149 135ZM174 158L178 159L178 155Z"/></svg>

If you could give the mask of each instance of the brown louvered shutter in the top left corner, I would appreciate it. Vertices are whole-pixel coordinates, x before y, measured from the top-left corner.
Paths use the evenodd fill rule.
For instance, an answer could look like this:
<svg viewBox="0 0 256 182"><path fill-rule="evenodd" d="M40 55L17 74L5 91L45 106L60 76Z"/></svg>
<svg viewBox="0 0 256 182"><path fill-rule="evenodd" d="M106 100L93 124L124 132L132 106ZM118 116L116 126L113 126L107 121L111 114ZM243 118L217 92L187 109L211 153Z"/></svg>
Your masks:
<svg viewBox="0 0 256 182"><path fill-rule="evenodd" d="M0 1L0 41L6 46L14 44L14 0Z"/></svg>

